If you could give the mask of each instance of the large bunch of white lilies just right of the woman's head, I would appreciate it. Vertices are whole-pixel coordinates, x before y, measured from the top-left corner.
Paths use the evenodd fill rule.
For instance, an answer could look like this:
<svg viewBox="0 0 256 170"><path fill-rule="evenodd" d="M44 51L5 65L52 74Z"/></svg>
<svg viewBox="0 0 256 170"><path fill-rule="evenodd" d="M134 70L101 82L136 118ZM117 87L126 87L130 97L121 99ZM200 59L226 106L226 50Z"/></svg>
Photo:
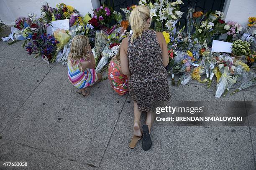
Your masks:
<svg viewBox="0 0 256 170"><path fill-rule="evenodd" d="M174 30L175 24L183 14L179 11L179 5L183 4L182 0L177 0L175 2L156 0L154 4L152 4L150 0L140 0L138 4L148 6L151 19L155 24L154 30L156 31L162 32L165 28L169 31Z"/></svg>

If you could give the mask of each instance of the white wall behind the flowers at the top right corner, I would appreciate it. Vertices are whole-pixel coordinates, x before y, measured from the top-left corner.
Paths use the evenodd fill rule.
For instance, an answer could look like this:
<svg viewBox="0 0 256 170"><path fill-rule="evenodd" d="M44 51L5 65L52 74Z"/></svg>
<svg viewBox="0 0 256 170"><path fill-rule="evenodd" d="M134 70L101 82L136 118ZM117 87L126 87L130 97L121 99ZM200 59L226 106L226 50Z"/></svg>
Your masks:
<svg viewBox="0 0 256 170"><path fill-rule="evenodd" d="M236 21L245 26L249 17L256 17L256 0L225 0L225 21Z"/></svg>

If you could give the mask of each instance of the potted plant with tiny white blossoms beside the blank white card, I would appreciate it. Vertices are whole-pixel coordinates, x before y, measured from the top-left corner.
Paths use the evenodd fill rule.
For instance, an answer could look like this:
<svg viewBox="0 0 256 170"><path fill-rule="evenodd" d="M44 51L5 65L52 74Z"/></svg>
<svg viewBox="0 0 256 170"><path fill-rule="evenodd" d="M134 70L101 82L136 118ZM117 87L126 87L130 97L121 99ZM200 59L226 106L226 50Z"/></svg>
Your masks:
<svg viewBox="0 0 256 170"><path fill-rule="evenodd" d="M232 53L234 55L250 55L251 44L243 40L236 40L232 44Z"/></svg>

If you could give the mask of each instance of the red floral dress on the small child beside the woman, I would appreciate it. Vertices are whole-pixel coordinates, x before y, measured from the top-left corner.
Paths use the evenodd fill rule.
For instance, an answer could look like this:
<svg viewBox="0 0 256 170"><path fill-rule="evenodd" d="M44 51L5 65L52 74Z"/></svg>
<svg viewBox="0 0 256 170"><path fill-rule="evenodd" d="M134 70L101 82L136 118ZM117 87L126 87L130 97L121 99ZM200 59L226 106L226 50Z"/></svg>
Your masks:
<svg viewBox="0 0 256 170"><path fill-rule="evenodd" d="M127 76L120 74L120 66L113 60L108 65L108 80L110 80L111 87L118 95L124 95L129 91Z"/></svg>

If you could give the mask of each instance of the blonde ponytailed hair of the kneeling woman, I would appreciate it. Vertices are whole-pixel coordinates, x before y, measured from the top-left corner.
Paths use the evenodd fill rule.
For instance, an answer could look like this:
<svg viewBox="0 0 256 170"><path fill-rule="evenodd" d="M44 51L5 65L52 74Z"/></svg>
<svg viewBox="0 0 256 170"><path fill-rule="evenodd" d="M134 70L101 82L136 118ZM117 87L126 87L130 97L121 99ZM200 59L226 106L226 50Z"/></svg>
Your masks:
<svg viewBox="0 0 256 170"><path fill-rule="evenodd" d="M133 30L133 35L131 37L131 42L137 37L141 37L144 28L149 28L147 20L150 18L150 13L146 5L140 5L135 7L129 17L129 23L131 29Z"/></svg>

